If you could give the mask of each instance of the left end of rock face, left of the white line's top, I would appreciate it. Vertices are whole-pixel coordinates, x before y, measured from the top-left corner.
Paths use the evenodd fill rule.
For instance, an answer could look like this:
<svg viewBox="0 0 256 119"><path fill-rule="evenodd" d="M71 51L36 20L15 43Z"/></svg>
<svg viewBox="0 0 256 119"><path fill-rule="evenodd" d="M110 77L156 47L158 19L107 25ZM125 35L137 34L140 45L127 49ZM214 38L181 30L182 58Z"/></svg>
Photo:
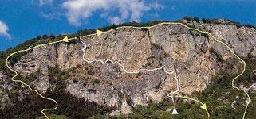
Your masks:
<svg viewBox="0 0 256 119"><path fill-rule="evenodd" d="M14 69L22 75L30 75L31 72L37 71L42 64L50 67L57 65L61 69L67 70L83 62L82 47L82 44L61 43L33 49L14 64Z"/></svg>

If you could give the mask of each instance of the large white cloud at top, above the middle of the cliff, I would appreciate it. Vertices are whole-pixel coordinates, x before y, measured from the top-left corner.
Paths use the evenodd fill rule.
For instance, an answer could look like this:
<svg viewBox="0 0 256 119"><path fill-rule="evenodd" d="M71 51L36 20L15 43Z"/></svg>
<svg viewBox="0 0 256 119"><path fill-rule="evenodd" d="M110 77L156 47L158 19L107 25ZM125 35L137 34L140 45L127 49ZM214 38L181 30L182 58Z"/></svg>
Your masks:
<svg viewBox="0 0 256 119"><path fill-rule="evenodd" d="M158 9L161 6L154 2L146 4L144 0L67 0L62 7L67 10L65 15L72 25L81 25L93 13L118 24L124 21L140 21L144 12ZM118 14L116 14L118 13Z"/></svg>

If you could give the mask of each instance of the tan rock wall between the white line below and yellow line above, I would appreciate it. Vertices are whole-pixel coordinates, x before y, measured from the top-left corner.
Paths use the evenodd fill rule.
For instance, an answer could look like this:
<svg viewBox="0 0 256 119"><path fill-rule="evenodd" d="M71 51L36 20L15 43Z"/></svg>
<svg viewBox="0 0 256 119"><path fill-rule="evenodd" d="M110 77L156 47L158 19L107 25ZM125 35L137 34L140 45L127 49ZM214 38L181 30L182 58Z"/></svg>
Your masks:
<svg viewBox="0 0 256 119"><path fill-rule="evenodd" d="M234 58L223 44L181 25L160 25L152 29L117 29L99 37L82 39L82 42L87 46L85 59L88 60L118 61L126 71L162 66L167 67L170 72L176 71L180 90L185 94L203 90L210 82L211 75L221 68L209 49L212 48L219 56L226 57L224 60ZM163 88L166 91L175 90L175 80L171 76L167 79L173 85Z"/></svg>

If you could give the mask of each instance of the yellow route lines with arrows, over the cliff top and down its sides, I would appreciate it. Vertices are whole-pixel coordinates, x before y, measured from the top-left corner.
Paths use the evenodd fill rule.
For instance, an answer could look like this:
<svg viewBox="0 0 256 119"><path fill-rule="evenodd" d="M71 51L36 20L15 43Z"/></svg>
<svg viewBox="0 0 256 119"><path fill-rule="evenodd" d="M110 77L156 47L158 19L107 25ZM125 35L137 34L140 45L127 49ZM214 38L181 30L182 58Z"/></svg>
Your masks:
<svg viewBox="0 0 256 119"><path fill-rule="evenodd" d="M238 77L244 73L244 71L246 70L246 62L245 62L244 60L242 60L242 59L233 51L232 48L230 48L230 47L229 47L227 44L225 44L223 41L217 40L217 38L215 38L215 36L211 35L211 33L206 32L206 31L202 31L202 30L200 30L200 29L191 28L191 27L189 27L189 26L187 26L187 25L185 25L185 24L183 24L183 23L180 23L180 22L162 22L162 23L160 23L160 24L152 25L152 26L149 26L149 27L120 26L120 27L117 27L117 28L115 28L115 29L110 29L110 30L108 30L108 31L104 31L104 32L102 32L102 33L109 33L109 32L112 32L112 31L114 31L114 30L116 30L116 29L121 29L121 28L150 29L150 28L153 28L153 27L156 27L156 26L159 26L159 25L183 25L183 26L184 26L185 28L187 28L187 29L191 29L191 30L195 30L195 31L197 31L197 32L199 32L199 33L207 34L208 36L211 36L211 37L212 37L214 40L216 40L217 42L219 42L219 43L221 43L221 44L224 44L224 45L226 46L226 48L228 48L228 49L230 50L230 52L232 52L232 53L234 54L234 56L236 56L238 59L240 59L240 60L242 61L242 63L243 63L243 70L242 70L242 72L241 72L239 75L237 75L234 79L232 79L232 87L235 88L235 89L237 89L238 91L243 91L243 92L246 94L246 96L247 96L247 98L248 98L248 100L249 100L248 102L246 102L246 109L245 109L245 111L244 111L244 113L243 113L243 117L242 117L242 118L244 119L245 116L246 116L246 110L247 110L247 108L248 108L248 106L249 106L249 104L250 104L250 95L246 92L246 90L242 90L242 89L239 89L237 86L234 86L234 80L235 80L235 79L238 79ZM89 34L89 35L86 35L86 36L83 36L83 37L94 36L94 35L96 35L96 33ZM75 38L71 38L71 39L69 39L69 40L72 40L72 39L75 39ZM35 47L33 47L33 48L39 48L39 47L42 47L42 46L45 46L45 45L49 45L49 44L57 44L57 43L59 43L59 42L62 42L62 40L55 41L55 42L52 42L52 43L47 43L47 44L39 44L39 45L37 45L37 46L35 46ZM13 55L15 55L16 53L19 53L19 52L27 52L27 51L29 51L29 50L31 50L31 49L33 49L33 48L27 48L26 50L21 50L21 51L18 51L18 52L11 53L10 56L13 56ZM49 119L49 118L47 117L47 115L44 113L44 111L57 109L57 102L56 102L54 99L52 99L52 98L46 98L46 97L42 96L40 93L38 93L37 90L33 90L33 89L30 87L30 85L28 85L28 84L22 82L21 80L14 80L14 78L18 75L18 73L17 73L16 71L14 71L14 70L9 66L9 64L8 64L8 59L10 58L10 56L7 56L7 58L6 58L6 66L10 69L10 71L13 71L13 72L15 73L15 75L12 77L12 80L13 80L14 82L19 82L19 83L22 83L22 84L28 86L28 87L30 88L30 90L35 91L39 96L41 96L41 98L45 98L45 99L48 99L48 100L53 101L53 102L56 103L56 106L55 106L54 108L51 108L51 109L42 109L42 110L41 110L41 113L43 113L44 116L45 116L47 119ZM196 100L196 99L194 99L194 98L189 98L189 97L186 97L186 96L178 96L178 97L179 97L179 98L187 98L187 99L190 99L190 100L192 100L192 101L199 102L200 104L203 105L203 102L200 102L199 100ZM207 109L205 109L205 110L207 111ZM208 111L207 111L207 115L208 115L208 117L210 117Z"/></svg>

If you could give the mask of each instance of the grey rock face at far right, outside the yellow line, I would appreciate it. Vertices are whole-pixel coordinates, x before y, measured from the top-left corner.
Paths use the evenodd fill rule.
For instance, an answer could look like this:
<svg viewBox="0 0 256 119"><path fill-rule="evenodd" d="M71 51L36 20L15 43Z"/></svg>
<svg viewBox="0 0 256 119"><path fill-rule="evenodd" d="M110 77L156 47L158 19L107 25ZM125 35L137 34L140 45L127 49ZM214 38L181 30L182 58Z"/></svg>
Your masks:
<svg viewBox="0 0 256 119"><path fill-rule="evenodd" d="M224 40L238 54L238 56L256 56L256 29L236 25L226 25L230 21L223 21L224 24L195 24L195 27L207 29L219 40ZM226 23L226 24L225 24Z"/></svg>

